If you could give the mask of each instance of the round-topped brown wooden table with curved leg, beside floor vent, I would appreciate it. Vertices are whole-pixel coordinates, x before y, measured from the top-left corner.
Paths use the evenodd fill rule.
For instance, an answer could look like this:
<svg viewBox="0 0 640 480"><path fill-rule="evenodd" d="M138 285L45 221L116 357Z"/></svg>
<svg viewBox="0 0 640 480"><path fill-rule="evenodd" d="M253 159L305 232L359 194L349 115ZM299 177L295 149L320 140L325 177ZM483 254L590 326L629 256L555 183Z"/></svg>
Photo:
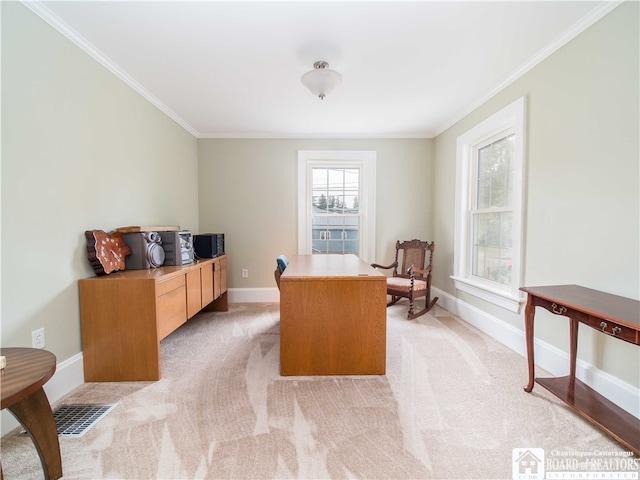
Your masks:
<svg viewBox="0 0 640 480"><path fill-rule="evenodd" d="M56 371L56 357L36 348L3 348L2 409L8 408L36 446L46 479L62 477L56 422L42 386Z"/></svg>

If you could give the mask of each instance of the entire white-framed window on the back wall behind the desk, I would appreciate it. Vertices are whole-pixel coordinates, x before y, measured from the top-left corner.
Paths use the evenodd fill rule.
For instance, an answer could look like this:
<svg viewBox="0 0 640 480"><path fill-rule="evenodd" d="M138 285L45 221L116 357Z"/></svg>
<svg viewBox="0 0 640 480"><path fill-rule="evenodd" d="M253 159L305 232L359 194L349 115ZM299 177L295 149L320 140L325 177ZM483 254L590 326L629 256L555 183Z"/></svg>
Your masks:
<svg viewBox="0 0 640 480"><path fill-rule="evenodd" d="M298 151L298 253L375 252L374 151Z"/></svg>

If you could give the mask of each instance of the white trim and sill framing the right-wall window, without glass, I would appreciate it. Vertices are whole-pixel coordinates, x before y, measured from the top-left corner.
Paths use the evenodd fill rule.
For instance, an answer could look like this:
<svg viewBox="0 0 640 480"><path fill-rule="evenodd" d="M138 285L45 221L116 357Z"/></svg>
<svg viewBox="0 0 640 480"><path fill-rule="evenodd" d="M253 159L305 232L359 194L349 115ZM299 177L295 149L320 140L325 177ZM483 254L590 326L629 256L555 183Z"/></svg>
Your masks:
<svg viewBox="0 0 640 480"><path fill-rule="evenodd" d="M454 274L450 277L456 289L518 313L524 302L519 290L524 261L524 165L526 145L526 97L520 97L499 112L482 121L457 139L456 154L456 220L454 237ZM484 140L514 129L514 197L513 197L513 264L511 285L482 281L471 275L471 185L474 147Z"/></svg>

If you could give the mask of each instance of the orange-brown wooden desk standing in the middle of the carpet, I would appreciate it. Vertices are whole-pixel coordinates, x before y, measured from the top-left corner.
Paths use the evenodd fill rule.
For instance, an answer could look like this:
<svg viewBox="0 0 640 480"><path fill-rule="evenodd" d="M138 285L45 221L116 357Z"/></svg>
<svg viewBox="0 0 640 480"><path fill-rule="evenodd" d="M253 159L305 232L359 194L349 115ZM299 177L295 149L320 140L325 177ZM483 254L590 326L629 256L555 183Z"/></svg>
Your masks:
<svg viewBox="0 0 640 480"><path fill-rule="evenodd" d="M293 257L280 278L281 375L384 375L387 282L355 255Z"/></svg>

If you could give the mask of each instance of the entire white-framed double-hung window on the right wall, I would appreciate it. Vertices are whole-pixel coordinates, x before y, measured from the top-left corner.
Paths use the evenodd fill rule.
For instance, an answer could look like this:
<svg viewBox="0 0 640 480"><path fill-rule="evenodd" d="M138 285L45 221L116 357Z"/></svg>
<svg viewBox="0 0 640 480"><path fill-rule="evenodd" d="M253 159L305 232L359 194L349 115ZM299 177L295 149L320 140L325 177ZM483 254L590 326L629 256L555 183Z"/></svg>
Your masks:
<svg viewBox="0 0 640 480"><path fill-rule="evenodd" d="M518 312L526 101L458 137L454 280L458 290Z"/></svg>

